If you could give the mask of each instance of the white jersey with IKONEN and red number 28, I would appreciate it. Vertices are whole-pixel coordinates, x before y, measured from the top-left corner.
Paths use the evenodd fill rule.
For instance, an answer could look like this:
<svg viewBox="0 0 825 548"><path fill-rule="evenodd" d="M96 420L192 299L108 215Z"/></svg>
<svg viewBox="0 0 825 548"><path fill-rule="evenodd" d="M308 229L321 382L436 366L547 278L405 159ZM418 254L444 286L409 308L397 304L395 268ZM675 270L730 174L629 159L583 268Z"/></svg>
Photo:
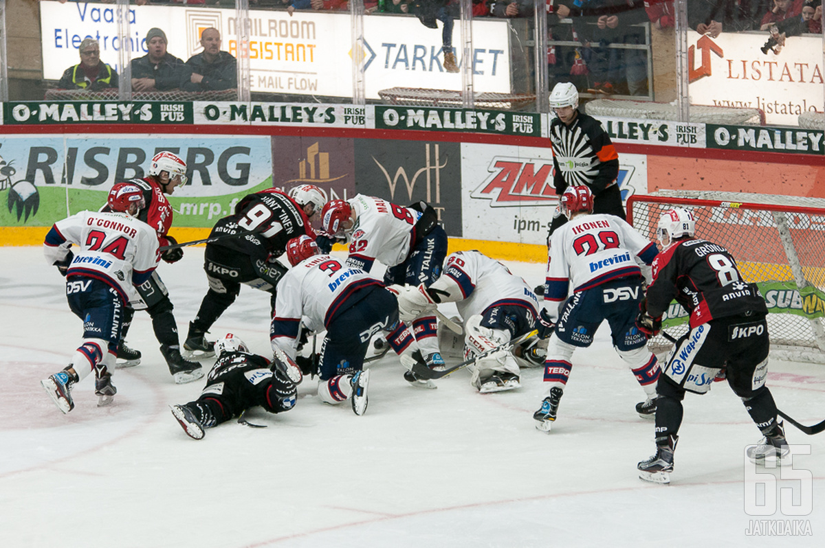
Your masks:
<svg viewBox="0 0 825 548"><path fill-rule="evenodd" d="M642 275L637 255L650 265L658 249L614 215L578 215L550 237L544 300L563 301L571 285L576 293L611 279Z"/></svg>

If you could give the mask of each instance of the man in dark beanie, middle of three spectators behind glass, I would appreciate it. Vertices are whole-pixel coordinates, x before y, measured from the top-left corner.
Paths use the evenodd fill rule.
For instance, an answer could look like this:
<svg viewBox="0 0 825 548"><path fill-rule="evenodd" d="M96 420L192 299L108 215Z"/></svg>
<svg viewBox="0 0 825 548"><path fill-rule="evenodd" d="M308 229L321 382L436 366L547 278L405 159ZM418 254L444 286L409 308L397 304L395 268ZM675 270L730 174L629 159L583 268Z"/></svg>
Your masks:
<svg viewBox="0 0 825 548"><path fill-rule="evenodd" d="M168 53L166 44L163 30L153 28L146 33L148 54L132 59L130 64L133 91L199 90L196 84L191 83L191 68Z"/></svg>

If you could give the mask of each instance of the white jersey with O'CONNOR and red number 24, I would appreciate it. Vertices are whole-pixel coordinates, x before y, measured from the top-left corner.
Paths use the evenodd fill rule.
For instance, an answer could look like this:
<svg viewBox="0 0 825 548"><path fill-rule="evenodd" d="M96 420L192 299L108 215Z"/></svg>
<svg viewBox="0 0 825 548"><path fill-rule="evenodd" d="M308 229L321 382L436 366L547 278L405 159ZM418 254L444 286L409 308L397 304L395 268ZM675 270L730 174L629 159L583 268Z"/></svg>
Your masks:
<svg viewBox="0 0 825 548"><path fill-rule="evenodd" d="M80 246L67 278L100 279L125 300L134 285L144 283L158 266L158 236L154 229L126 213L82 211L54 223L43 252L50 265L64 260L72 244Z"/></svg>

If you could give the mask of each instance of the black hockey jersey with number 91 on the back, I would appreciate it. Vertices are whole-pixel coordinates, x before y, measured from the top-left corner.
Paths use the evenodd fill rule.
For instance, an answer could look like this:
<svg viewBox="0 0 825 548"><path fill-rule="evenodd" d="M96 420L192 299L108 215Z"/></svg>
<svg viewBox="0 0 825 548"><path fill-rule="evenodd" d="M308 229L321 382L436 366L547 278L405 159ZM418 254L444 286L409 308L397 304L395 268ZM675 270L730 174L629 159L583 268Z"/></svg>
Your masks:
<svg viewBox="0 0 825 548"><path fill-rule="evenodd" d="M282 255L286 242L306 234L315 239L309 219L281 190L267 189L247 194L235 206L235 213L215 223L210 237L255 232L244 237L223 238L210 246L226 247L245 255Z"/></svg>

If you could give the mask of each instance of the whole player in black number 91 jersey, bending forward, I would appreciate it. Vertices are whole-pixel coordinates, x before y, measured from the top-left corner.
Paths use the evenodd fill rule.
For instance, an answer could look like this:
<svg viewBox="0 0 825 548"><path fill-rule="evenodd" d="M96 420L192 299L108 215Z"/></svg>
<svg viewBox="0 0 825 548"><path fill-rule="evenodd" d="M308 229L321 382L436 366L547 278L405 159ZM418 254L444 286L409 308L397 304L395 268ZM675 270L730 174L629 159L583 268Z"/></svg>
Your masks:
<svg viewBox="0 0 825 548"><path fill-rule="evenodd" d="M299 185L290 194L266 189L247 194L232 215L215 223L210 237L221 239L207 243L204 251L209 290L189 324L183 344L188 356L214 355L214 343L206 340L205 333L235 302L242 283L270 293L274 310L277 285L286 272L277 258L291 238L315 236L310 218L325 202L326 194L314 185Z"/></svg>

